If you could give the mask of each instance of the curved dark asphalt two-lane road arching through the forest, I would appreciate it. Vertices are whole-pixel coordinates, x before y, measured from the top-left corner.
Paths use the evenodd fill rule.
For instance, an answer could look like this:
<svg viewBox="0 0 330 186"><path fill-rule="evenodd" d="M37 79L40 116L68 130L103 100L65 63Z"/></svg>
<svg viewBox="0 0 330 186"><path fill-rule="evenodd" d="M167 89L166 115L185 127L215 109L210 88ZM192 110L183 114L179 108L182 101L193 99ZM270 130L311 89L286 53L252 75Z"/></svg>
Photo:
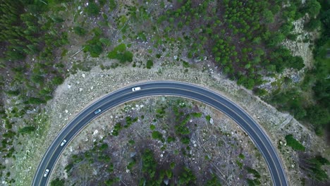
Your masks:
<svg viewBox="0 0 330 186"><path fill-rule="evenodd" d="M59 135L47 149L42 161L39 163L32 185L47 185L49 175L61 156L63 149L71 140L73 140L75 135L78 135L80 130L90 123L91 120L99 116L99 114L108 109L114 108L119 104L123 104L126 101L159 95L195 99L225 113L240 125L240 128L249 135L252 142L254 142L255 146L262 153L267 162L274 185L288 185L286 173L281 164L281 159L277 155L273 144L271 144L271 140L269 140L269 137L267 137L265 132L259 128L259 125L255 120L243 111L243 109L240 109L238 105L209 89L204 89L203 87L183 82L145 82L135 85L134 87L141 87L141 90L132 92L132 87L119 89L116 92L107 94L105 97L94 102L94 104L88 106L75 116L75 118L73 118L73 120L71 120L61 132L59 132ZM101 109L102 112L95 115L94 111L97 109ZM61 147L60 144L64 139L67 140L67 142ZM44 177L46 169L49 169L49 173Z"/></svg>

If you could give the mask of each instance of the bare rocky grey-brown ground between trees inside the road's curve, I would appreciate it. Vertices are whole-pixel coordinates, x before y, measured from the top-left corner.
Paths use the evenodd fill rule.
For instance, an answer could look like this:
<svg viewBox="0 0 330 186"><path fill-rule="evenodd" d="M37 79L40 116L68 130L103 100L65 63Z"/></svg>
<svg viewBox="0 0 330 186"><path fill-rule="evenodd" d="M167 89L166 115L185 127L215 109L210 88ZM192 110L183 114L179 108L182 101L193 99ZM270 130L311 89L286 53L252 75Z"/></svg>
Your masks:
<svg viewBox="0 0 330 186"><path fill-rule="evenodd" d="M171 109L166 109L167 117L154 119L157 118L157 113L155 113L157 109L162 106L170 108L171 106L168 106L173 105L176 101L185 105L186 111L203 113L201 118L192 118L188 121L188 128L192 131L189 135L188 147L190 150L187 150L189 156L185 156L181 152L185 145L179 140L167 143L153 140L151 137L150 125L154 125L154 130L160 131L164 137L173 135L171 129L175 122L173 122L173 114L171 118L171 113L169 113ZM138 117L139 120L130 128L121 131L118 136L108 135L109 131L113 130L114 124L122 122L126 116ZM210 123L207 122L205 116L211 116ZM261 182L264 185L271 185L271 178L264 159L255 149L249 137L237 127L233 120L204 104L173 97L155 97L133 101L102 114L68 145L59 159L53 177L67 178L68 175L64 168L72 154L80 154L80 152L92 148L93 142L103 137L105 137L104 142L109 145L109 156L114 162L114 175L122 180L121 183L118 183L119 185L137 185L138 175L140 175L139 168L129 171L126 166L132 154L140 156L139 152L145 148L154 151L155 159L161 165L176 162L176 165L189 166L197 175L197 185L203 185L209 172L217 175L225 185L246 185L245 178L250 178L251 175L244 171L244 168L240 168L237 161L243 163L244 167L248 166L262 173ZM129 140L133 140L135 144L129 145ZM161 147L166 147L166 149L161 149ZM175 151L178 151L178 154L175 154ZM239 158L240 154L243 154L243 159ZM139 161L137 164L140 164ZM66 185L71 185L73 182L79 185L91 185L90 180L95 181L93 176L98 175L99 177L100 172L100 167L92 166L87 162L78 163L69 178L65 179Z"/></svg>

